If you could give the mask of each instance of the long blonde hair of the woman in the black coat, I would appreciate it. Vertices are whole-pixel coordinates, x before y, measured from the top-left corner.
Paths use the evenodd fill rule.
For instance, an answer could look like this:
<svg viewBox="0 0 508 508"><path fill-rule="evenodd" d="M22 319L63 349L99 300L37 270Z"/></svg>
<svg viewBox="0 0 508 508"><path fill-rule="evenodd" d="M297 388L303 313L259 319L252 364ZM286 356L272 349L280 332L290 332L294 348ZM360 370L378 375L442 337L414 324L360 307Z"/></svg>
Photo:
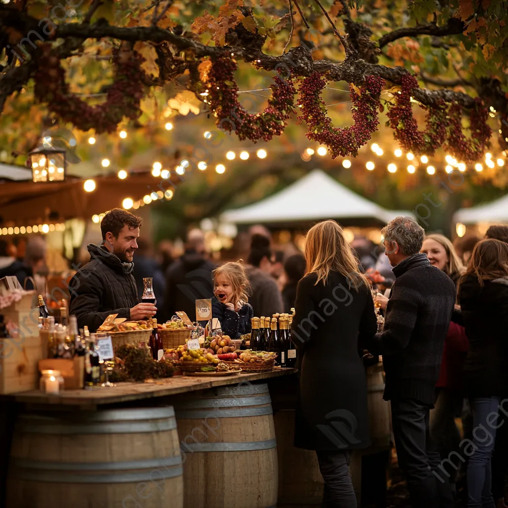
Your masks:
<svg viewBox="0 0 508 508"><path fill-rule="evenodd" d="M370 286L367 277L359 270L353 249L344 238L342 228L335 220L324 220L309 229L305 239L307 273L315 273L317 282L326 284L331 271L344 275L356 289L362 284Z"/></svg>

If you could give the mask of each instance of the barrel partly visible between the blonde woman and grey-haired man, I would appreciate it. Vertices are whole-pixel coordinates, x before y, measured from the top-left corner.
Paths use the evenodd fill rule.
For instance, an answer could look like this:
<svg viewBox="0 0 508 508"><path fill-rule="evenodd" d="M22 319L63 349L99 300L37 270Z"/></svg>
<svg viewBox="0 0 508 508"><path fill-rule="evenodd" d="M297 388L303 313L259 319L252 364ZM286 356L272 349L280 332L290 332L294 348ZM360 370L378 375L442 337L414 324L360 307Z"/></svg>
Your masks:
<svg viewBox="0 0 508 508"><path fill-rule="evenodd" d="M386 447L392 439L392 415L390 403L383 400L385 380L383 364L367 368L367 403L369 407L369 429L372 447Z"/></svg>

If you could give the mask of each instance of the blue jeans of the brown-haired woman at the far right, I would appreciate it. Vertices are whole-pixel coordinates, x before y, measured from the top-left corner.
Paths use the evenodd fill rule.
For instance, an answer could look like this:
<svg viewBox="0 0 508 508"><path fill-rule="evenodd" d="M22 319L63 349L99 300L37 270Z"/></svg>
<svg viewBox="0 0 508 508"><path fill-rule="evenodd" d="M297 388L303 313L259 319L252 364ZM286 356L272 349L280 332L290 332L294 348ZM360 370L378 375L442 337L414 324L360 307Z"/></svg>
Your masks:
<svg viewBox="0 0 508 508"><path fill-rule="evenodd" d="M474 452L467 464L467 508L495 508L492 497L491 459L496 439L499 397L471 399ZM494 415L492 415L494 414Z"/></svg>

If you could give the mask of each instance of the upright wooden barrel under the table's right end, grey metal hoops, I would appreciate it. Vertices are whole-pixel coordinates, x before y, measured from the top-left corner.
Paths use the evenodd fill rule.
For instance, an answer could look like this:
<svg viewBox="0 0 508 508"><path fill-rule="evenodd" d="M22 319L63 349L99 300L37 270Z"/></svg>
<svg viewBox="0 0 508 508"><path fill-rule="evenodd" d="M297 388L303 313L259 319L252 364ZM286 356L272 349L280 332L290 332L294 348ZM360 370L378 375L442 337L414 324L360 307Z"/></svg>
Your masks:
<svg viewBox="0 0 508 508"><path fill-rule="evenodd" d="M267 508L277 502L268 386L240 383L173 399L185 508Z"/></svg>

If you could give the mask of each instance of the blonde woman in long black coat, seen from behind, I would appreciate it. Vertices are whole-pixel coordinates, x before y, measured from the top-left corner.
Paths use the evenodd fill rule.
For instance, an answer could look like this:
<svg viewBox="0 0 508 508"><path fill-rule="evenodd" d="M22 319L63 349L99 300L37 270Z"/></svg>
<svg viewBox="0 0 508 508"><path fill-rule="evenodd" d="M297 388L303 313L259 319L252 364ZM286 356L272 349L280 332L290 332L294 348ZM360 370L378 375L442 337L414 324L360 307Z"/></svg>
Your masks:
<svg viewBox="0 0 508 508"><path fill-rule="evenodd" d="M305 242L292 340L300 370L295 446L315 450L323 506L356 508L348 451L369 444L367 384L359 346L377 331L374 304L342 228L316 224Z"/></svg>

